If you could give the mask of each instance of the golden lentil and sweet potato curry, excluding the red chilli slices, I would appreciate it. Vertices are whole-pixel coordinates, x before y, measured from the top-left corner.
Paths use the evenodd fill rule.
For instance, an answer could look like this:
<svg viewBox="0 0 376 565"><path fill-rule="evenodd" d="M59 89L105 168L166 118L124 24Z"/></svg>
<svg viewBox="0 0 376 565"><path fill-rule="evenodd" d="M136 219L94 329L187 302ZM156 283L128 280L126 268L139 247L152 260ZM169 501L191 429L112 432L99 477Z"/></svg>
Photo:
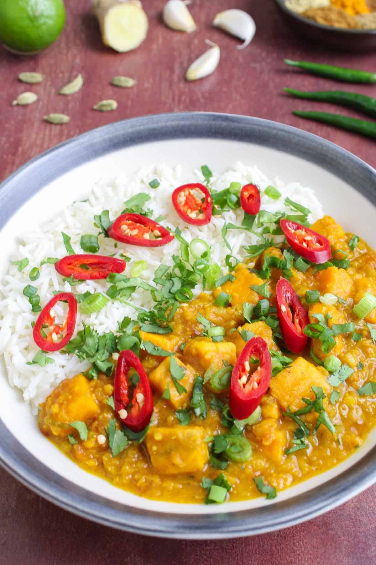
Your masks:
<svg viewBox="0 0 376 565"><path fill-rule="evenodd" d="M162 357L155 350L154 354L140 351L155 405L144 441L130 441L125 446L126 440L122 440L125 436L118 434L123 449L113 455L109 428L115 424L117 431L123 428L113 409L114 379L104 373L92 380L80 374L57 386L41 407L39 425L43 434L80 467L114 486L170 502L204 502L211 483L204 481L203 488L203 477L214 480L221 472L231 485L231 501L241 501L260 496L254 479L262 477L264 485L278 492L342 462L362 444L376 424L373 394L376 383L370 383L376 363L376 331L373 329L376 309L364 318L353 312L366 292L376 295L376 254L365 241L345 233L328 216L311 229L328 238L335 264L324 265L326 268L321 270L306 264L303 272L301 264L300 270L295 267L295 256L295 264L290 268L290 284L308 312L310 323L317 326L322 320L321 325L329 328L325 332L330 340L335 340L330 350L324 351L328 349L324 347L327 342L312 337L301 353L281 352L282 342L278 341L273 308L276 283L285 276L285 271L282 273L280 268L271 266L271 278L263 290L262 285L268 279L259 275L266 257L275 256L284 261L286 255L282 251L286 246L282 245L282 249L269 247L251 259L252 263L237 264L234 280L227 280L211 294L203 292L197 299L183 303L172 318L171 333L139 332L144 342L175 353L172 357ZM339 249L342 253L336 253ZM341 263L345 253L350 266ZM254 285L262 294L250 288ZM318 292L313 293L315 290ZM272 293L268 304L267 291ZM228 306L216 305L215 302L223 303L223 294L218 302L221 293L230 295ZM253 313L251 305L255 307ZM264 316L260 312L262 306L270 308ZM212 327L224 328L223 341L213 341L207 332L205 334L199 314L209 320ZM343 325L349 323L347 327ZM318 331L309 327L312 332ZM273 332L276 341L273 341ZM254 418L256 421L234 423L227 407L228 386L225 384L218 392L218 387L213 388L213 378L208 377L226 366L235 366L253 334L261 337L272 352L272 378L260 403L260 415L259 411L254 412L258 416ZM176 362L175 368L184 370L179 381L184 390L180 388L180 392L171 375L172 359ZM252 366L251 359L250 373L256 367L257 364ZM197 376L206 381L202 388L206 408L200 397L201 381ZM192 402L194 387L198 402ZM195 410L190 408L192 404ZM306 413L303 410L302 414L302 408L307 408ZM300 413L293 419L286 415L289 411ZM76 427L70 425L73 422ZM85 429L82 432L77 423L85 423L86 439ZM231 437L238 434L237 437L249 442L251 457L244 445L229 449L229 434ZM225 450L221 450L221 441ZM237 462L235 459L239 458L244 460ZM213 497L215 499L214 491Z"/></svg>

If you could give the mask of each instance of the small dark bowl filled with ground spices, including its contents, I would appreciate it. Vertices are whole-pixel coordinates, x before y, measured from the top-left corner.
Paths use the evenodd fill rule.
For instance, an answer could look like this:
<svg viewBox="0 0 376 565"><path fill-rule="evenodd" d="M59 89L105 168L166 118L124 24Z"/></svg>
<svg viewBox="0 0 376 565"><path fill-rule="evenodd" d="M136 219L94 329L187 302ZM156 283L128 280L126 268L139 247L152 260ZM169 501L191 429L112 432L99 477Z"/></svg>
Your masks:
<svg viewBox="0 0 376 565"><path fill-rule="evenodd" d="M346 51L376 47L375 0L275 0L295 32Z"/></svg>

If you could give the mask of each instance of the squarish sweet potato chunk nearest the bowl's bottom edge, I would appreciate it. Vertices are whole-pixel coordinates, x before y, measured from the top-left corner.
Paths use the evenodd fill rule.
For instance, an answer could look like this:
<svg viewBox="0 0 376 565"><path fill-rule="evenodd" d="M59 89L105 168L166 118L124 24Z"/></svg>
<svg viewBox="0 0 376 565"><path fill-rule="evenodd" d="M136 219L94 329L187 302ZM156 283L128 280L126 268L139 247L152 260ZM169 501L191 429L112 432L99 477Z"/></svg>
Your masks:
<svg viewBox="0 0 376 565"><path fill-rule="evenodd" d="M204 428L150 428L146 446L152 466L162 475L202 471L209 457L204 438Z"/></svg>

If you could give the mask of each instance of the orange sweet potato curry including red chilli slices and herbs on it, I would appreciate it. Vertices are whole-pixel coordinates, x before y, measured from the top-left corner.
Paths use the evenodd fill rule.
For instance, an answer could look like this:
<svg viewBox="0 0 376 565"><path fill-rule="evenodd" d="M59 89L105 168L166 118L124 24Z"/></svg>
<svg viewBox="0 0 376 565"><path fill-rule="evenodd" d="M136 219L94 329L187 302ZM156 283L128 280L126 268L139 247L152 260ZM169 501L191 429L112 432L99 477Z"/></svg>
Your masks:
<svg viewBox="0 0 376 565"><path fill-rule="evenodd" d="M286 224L287 242L229 259L151 331L124 320L121 374L61 382L42 433L114 486L180 503L274 498L352 454L376 424L376 254L329 216Z"/></svg>

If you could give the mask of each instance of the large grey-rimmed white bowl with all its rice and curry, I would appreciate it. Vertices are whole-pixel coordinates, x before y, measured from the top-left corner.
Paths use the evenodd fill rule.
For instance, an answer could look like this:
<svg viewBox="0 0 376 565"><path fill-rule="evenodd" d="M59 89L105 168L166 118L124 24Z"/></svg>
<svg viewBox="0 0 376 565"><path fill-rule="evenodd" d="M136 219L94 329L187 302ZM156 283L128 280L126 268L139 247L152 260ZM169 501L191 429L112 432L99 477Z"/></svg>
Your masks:
<svg viewBox="0 0 376 565"><path fill-rule="evenodd" d="M371 484L375 171L242 116L151 116L99 137L27 166L42 177L0 232L14 242L2 464L68 510L166 537L285 527ZM82 151L94 161L75 163Z"/></svg>

